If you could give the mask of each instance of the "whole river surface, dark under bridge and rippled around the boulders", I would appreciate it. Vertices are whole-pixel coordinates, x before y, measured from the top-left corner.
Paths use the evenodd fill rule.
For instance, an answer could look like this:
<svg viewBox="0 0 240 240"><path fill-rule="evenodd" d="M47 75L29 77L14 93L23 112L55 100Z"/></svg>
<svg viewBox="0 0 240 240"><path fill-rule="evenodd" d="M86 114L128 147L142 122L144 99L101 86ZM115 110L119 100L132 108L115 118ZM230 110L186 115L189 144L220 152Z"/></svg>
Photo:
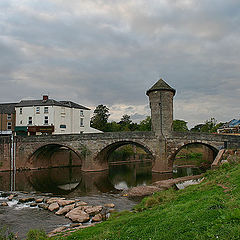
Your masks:
<svg viewBox="0 0 240 240"><path fill-rule="evenodd" d="M81 199L90 205L114 203L116 210L131 210L137 203L121 196L121 191L152 182L199 174L197 168L176 168L173 173L151 172L151 162L110 165L108 171L81 172L80 167L51 168L22 172L0 172L0 191L17 192L18 197L29 193L31 196L61 196L67 199ZM0 193L1 193L0 192ZM1 196L1 194L0 194ZM7 198L0 197L0 202ZM18 233L23 239L30 229L44 229L49 232L56 227L70 224L63 216L31 208L29 204L8 202L9 207L0 206L0 224Z"/></svg>

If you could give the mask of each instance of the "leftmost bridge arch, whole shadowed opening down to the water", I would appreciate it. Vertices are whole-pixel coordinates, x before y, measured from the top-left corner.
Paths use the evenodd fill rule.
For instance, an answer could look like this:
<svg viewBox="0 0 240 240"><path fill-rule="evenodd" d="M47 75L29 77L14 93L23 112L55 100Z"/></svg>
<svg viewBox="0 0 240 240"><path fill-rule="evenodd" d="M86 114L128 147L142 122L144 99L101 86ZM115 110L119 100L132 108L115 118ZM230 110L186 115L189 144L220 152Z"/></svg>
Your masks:
<svg viewBox="0 0 240 240"><path fill-rule="evenodd" d="M61 154L55 156L56 152ZM58 158L55 162L53 162L54 157ZM68 162L65 160L66 157L68 157ZM81 152L65 143L48 143L41 146L38 145L27 156L27 166L34 169L60 166L81 166L82 161Z"/></svg>

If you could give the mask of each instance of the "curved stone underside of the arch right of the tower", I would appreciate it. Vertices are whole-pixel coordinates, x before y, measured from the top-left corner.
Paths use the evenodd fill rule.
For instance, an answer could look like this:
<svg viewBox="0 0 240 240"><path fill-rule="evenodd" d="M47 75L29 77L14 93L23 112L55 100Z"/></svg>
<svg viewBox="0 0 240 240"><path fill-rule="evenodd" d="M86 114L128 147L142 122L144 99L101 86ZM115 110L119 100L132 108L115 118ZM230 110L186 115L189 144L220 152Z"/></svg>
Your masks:
<svg viewBox="0 0 240 240"><path fill-rule="evenodd" d="M208 142L202 142L202 141L191 141L191 142L184 142L184 143L181 143L178 147L176 147L174 149L174 151L172 152L172 154L170 154L169 158L168 158L168 167L172 169L173 167L173 164L174 164L174 160L177 156L177 154L185 147L187 146L193 146L193 145L199 145L199 146L205 146L207 147L209 150L212 151L213 153L213 161L215 159L215 157L217 156L218 154L218 148L212 144L209 144Z"/></svg>

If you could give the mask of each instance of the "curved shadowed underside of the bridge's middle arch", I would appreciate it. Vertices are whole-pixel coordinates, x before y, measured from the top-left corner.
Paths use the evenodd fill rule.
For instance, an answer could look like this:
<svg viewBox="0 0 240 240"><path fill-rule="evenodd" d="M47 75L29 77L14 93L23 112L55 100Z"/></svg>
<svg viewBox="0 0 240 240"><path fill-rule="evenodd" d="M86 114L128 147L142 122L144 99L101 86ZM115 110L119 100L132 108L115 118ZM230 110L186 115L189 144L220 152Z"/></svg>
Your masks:
<svg viewBox="0 0 240 240"><path fill-rule="evenodd" d="M147 154L149 154L152 162L155 161L154 152L148 146L146 146L144 143L134 141L134 140L116 141L116 142L113 142L111 144L108 144L108 145L104 146L98 152L98 154L95 156L95 161L98 161L99 163L106 165L106 164L108 164L108 159L109 159L109 156L112 152L114 152L119 147L122 147L124 145L129 145L129 144L142 148Z"/></svg>

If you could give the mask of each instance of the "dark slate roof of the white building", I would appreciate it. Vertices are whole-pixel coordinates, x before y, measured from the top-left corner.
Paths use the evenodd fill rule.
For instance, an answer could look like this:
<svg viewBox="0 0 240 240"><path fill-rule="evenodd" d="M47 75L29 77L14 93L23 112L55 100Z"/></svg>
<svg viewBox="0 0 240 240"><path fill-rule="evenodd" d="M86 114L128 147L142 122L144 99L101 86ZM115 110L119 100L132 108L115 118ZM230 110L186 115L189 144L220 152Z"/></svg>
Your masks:
<svg viewBox="0 0 240 240"><path fill-rule="evenodd" d="M31 106L61 106L69 108L77 108L83 110L90 110L87 107L79 105L71 101L56 101L54 99L47 100L22 100L20 103L16 104L16 107L31 107Z"/></svg>

